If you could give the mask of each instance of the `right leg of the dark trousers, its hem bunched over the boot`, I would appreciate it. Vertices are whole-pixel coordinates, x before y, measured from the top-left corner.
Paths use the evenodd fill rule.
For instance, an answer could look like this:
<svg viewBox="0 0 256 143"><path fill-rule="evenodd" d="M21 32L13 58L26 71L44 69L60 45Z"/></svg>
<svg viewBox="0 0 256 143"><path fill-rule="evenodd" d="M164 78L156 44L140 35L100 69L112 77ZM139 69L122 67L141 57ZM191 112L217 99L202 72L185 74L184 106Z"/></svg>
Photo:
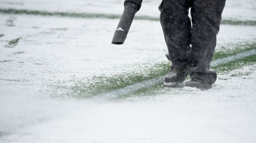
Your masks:
<svg viewBox="0 0 256 143"><path fill-rule="evenodd" d="M216 46L216 35L220 29L221 14L226 0L193 0L192 50L189 75L201 78L210 84L216 81L217 74L210 69L210 62Z"/></svg>

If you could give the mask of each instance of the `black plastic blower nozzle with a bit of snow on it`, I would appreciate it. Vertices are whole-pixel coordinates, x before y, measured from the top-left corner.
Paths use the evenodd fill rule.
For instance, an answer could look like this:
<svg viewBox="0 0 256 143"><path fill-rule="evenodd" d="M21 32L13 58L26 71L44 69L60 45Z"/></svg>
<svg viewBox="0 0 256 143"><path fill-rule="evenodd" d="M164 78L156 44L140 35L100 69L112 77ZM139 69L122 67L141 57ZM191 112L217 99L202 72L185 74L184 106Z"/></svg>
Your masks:
<svg viewBox="0 0 256 143"><path fill-rule="evenodd" d="M141 8L142 0L125 0L124 11L115 30L112 44L123 44L133 22L134 15Z"/></svg>

